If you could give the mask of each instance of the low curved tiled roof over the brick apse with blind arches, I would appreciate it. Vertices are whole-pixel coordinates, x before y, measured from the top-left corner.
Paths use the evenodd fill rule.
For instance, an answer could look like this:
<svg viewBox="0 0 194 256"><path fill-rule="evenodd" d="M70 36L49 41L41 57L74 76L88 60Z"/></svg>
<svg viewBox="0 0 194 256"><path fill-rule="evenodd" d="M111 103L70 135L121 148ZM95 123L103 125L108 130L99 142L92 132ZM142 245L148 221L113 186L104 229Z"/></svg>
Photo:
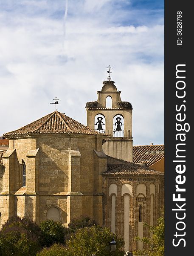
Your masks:
<svg viewBox="0 0 194 256"><path fill-rule="evenodd" d="M161 172L154 171L152 169L142 167L139 164L130 163L127 164L109 164L107 165L107 171L102 175L161 175L164 174Z"/></svg>

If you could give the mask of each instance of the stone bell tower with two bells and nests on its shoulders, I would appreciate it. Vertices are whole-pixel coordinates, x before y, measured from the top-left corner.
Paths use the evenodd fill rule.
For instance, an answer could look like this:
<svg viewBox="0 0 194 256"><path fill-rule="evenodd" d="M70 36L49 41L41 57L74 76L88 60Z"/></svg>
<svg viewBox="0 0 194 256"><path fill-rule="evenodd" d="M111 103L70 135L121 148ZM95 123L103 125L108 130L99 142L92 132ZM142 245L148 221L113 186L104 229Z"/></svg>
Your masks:
<svg viewBox="0 0 194 256"><path fill-rule="evenodd" d="M97 101L86 103L87 126L107 134L102 145L105 154L132 162L132 105L121 101L121 91L109 79L97 92Z"/></svg>

